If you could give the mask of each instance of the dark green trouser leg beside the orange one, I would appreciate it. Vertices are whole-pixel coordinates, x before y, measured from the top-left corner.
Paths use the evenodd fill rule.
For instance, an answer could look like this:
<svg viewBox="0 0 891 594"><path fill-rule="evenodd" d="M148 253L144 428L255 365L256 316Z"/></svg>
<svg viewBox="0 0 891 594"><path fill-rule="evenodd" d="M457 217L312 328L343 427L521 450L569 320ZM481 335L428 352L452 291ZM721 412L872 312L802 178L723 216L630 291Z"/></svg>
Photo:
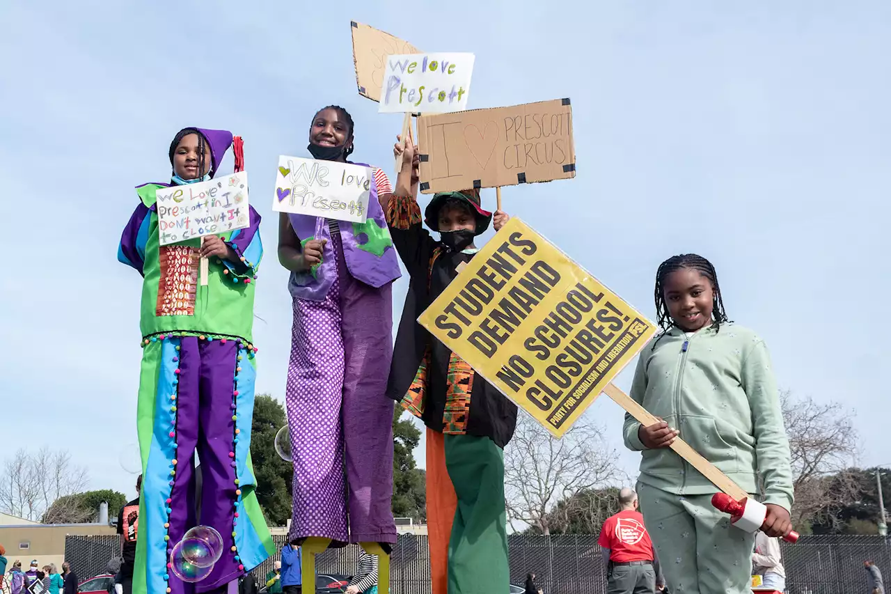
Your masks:
<svg viewBox="0 0 891 594"><path fill-rule="evenodd" d="M448 594L508 594L504 452L487 437L446 435L455 508L448 546Z"/></svg>

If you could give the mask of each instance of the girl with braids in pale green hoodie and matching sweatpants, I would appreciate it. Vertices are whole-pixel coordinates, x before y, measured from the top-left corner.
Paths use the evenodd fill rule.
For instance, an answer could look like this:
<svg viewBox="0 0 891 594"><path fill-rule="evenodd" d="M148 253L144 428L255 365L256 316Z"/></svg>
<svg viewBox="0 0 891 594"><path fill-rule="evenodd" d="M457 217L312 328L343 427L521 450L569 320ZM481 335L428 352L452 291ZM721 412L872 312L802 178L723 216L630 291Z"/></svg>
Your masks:
<svg viewBox="0 0 891 594"><path fill-rule="evenodd" d="M663 332L641 353L631 397L663 422L625 415L625 445L643 455L641 511L671 591L748 594L755 534L712 507L716 487L668 446L689 443L759 495L767 535L788 534L789 441L767 348L727 319L715 267L701 256L664 261L655 298Z"/></svg>

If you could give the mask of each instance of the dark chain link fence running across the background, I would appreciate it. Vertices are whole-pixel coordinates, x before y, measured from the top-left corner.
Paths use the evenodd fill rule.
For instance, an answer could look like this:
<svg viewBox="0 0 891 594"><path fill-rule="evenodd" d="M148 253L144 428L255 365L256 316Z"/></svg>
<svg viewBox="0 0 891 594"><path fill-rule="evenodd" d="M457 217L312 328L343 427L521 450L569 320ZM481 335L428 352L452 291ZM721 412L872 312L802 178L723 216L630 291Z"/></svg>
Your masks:
<svg viewBox="0 0 891 594"><path fill-rule="evenodd" d="M285 544L275 536L275 546ZM597 537L511 536L511 583L522 585L535 573L545 594L605 594L606 573ZM103 573L110 557L119 551L115 536L69 536L65 558L86 579ZM352 575L358 547L329 549L316 557L317 573ZM789 594L862 594L866 590L863 561L871 560L891 577L891 539L880 536L802 536L794 545L782 544ZM257 582L272 571L274 557L254 570ZM430 594L430 563L426 536L403 534L390 563L393 594Z"/></svg>

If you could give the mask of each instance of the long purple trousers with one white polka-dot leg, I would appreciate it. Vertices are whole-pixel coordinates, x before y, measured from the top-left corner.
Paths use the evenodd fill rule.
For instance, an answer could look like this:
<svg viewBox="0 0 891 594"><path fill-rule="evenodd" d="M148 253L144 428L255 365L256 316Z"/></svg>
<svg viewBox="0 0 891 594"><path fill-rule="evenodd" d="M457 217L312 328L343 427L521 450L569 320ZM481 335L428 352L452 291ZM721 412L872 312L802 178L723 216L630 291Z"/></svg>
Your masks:
<svg viewBox="0 0 891 594"><path fill-rule="evenodd" d="M294 464L290 539L396 543L391 285L338 276L324 301L294 300L286 400Z"/></svg>

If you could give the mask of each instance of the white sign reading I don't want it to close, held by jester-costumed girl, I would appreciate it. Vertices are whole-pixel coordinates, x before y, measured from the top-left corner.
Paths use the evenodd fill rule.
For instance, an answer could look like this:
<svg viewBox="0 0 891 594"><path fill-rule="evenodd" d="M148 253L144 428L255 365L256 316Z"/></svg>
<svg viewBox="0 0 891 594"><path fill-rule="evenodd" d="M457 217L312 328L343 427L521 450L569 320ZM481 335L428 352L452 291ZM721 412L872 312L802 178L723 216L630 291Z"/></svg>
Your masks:
<svg viewBox="0 0 891 594"><path fill-rule="evenodd" d="M158 188L161 245L248 227L248 174L233 173L206 182Z"/></svg>

